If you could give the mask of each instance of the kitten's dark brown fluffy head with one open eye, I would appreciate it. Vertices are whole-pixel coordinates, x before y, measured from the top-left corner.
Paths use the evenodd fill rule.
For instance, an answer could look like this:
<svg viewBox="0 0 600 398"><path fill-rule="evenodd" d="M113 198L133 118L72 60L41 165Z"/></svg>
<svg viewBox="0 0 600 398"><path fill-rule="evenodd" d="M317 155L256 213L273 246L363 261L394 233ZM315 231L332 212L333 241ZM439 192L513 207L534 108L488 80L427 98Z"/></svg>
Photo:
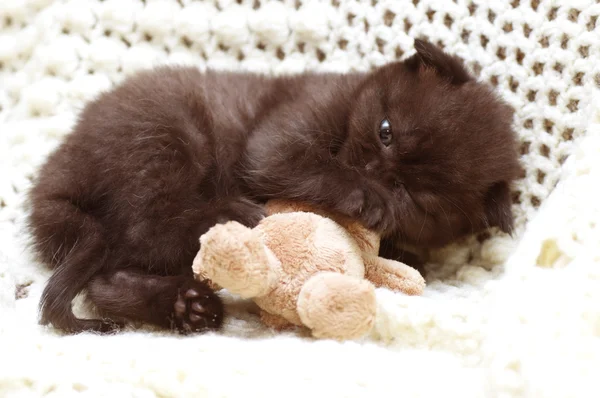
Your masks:
<svg viewBox="0 0 600 398"><path fill-rule="evenodd" d="M393 232L408 244L512 232L510 184L521 173L513 110L458 58L421 40L415 48L359 87L339 158L389 190Z"/></svg>

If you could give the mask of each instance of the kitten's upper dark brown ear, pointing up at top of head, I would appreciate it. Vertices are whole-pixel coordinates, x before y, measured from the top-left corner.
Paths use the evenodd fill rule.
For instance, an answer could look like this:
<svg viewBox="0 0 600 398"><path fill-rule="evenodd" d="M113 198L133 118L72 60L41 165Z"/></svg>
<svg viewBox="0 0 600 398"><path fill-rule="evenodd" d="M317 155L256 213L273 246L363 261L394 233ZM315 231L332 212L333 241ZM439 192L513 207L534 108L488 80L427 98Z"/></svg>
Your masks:
<svg viewBox="0 0 600 398"><path fill-rule="evenodd" d="M459 58L446 54L432 43L415 39L415 50L416 54L407 59L407 65L413 69L419 70L421 66L433 68L440 76L457 85L473 79Z"/></svg>

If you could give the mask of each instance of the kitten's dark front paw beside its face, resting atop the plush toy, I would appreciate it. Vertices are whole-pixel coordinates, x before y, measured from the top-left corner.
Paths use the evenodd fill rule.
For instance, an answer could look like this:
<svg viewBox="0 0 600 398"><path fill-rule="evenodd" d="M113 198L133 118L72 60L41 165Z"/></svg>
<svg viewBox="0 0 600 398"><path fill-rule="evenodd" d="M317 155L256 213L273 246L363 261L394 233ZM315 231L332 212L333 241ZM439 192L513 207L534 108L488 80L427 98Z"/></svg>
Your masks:
<svg viewBox="0 0 600 398"><path fill-rule="evenodd" d="M354 189L339 206L339 210L360 220L367 228L383 232L394 223L390 200L370 187Z"/></svg>

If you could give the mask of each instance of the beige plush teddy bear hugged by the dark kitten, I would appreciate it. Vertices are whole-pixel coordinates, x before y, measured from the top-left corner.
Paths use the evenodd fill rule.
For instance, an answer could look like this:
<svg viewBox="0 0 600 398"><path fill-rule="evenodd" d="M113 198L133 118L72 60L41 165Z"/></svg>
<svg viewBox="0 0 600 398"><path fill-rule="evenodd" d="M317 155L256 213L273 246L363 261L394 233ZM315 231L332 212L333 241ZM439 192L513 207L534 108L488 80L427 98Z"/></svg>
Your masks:
<svg viewBox="0 0 600 398"><path fill-rule="evenodd" d="M425 287L415 269L378 257L379 235L353 220L285 201L268 202L267 213L254 229L211 228L193 270L217 290L253 299L273 328L359 338L375 320L375 286L410 295Z"/></svg>

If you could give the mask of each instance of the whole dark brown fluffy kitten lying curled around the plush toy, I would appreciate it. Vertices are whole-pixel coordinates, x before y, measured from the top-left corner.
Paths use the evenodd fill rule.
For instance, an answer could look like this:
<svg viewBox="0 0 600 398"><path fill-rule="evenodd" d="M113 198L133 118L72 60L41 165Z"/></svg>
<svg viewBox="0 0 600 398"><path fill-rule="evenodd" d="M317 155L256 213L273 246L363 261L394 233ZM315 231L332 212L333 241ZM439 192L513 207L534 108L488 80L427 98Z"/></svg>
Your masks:
<svg viewBox="0 0 600 398"><path fill-rule="evenodd" d="M364 74L163 67L89 103L31 192L35 248L55 270L42 323L218 328L220 300L191 275L198 237L226 220L255 225L269 198L356 217L385 233L388 256L390 242L510 232L511 109L459 60L415 43L405 62ZM104 320L73 315L83 290Z"/></svg>

